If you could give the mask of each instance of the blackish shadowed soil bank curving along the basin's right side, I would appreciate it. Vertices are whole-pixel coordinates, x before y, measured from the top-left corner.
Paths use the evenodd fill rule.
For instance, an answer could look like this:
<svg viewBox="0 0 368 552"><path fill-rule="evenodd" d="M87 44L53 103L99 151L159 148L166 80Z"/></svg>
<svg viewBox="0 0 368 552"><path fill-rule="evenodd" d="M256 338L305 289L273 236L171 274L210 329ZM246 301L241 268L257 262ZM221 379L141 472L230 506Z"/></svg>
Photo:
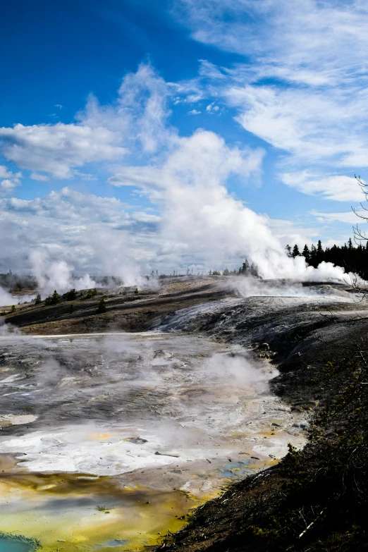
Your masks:
<svg viewBox="0 0 368 552"><path fill-rule="evenodd" d="M242 305L192 321L226 341L269 343L281 372L274 391L314 414L304 450L290 446L278 465L233 484L158 550L368 550L366 308L270 305L262 315Z"/></svg>

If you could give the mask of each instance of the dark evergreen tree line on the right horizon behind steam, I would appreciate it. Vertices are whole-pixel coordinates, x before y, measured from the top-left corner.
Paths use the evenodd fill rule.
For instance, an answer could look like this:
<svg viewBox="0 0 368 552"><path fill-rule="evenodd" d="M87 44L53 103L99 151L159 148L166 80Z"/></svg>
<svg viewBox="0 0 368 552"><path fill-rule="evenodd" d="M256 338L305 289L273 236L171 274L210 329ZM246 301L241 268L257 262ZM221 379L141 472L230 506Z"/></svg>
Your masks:
<svg viewBox="0 0 368 552"><path fill-rule="evenodd" d="M368 279L368 242L365 247L361 244L355 247L349 238L347 244L333 245L324 249L319 240L317 245L313 244L310 249L305 245L302 252L298 245L294 245L293 248L286 245L286 252L288 257L305 257L307 264L314 268L317 268L322 261L331 262L335 266L342 266L347 272L359 274L364 280Z"/></svg>

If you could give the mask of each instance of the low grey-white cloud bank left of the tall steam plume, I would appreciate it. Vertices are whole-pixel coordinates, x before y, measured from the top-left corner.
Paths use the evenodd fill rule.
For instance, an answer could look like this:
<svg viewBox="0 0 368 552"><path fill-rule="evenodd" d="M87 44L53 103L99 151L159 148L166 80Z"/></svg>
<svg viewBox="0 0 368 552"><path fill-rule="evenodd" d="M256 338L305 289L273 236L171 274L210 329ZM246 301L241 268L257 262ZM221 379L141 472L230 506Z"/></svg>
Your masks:
<svg viewBox="0 0 368 552"><path fill-rule="evenodd" d="M143 220L144 211L129 214L115 197L63 188L35 200L0 200L0 207L0 234L8 236L1 243L3 269L29 269L30 253L37 251L46 259L44 270L64 262L76 271L98 268L134 283L140 269L147 269L142 259L152 258L154 235L145 225L157 220L152 214Z"/></svg>

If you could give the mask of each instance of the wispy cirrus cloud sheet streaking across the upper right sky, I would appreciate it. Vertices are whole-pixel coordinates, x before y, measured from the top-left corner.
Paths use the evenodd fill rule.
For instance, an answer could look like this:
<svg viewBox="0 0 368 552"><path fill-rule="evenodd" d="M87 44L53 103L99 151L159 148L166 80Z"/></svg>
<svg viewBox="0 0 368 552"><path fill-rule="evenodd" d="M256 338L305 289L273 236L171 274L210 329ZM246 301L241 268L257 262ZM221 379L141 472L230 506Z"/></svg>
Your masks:
<svg viewBox="0 0 368 552"><path fill-rule="evenodd" d="M238 112L247 132L278 149L283 171L295 171L288 185L356 200L348 176L368 165L366 4L178 0L173 6L192 38L243 56L228 67L202 62L198 80ZM336 166L341 177L328 178ZM319 173L319 188L300 183L303 168Z"/></svg>

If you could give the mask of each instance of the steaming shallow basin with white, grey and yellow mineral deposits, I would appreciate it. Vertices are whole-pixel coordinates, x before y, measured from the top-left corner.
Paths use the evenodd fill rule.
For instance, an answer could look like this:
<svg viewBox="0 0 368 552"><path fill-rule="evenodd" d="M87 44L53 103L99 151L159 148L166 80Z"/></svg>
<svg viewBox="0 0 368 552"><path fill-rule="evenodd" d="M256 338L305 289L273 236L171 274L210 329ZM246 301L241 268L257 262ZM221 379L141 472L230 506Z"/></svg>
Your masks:
<svg viewBox="0 0 368 552"><path fill-rule="evenodd" d="M46 552L155 544L226 482L304 443L269 393L269 364L238 346L156 332L0 348L0 530Z"/></svg>

